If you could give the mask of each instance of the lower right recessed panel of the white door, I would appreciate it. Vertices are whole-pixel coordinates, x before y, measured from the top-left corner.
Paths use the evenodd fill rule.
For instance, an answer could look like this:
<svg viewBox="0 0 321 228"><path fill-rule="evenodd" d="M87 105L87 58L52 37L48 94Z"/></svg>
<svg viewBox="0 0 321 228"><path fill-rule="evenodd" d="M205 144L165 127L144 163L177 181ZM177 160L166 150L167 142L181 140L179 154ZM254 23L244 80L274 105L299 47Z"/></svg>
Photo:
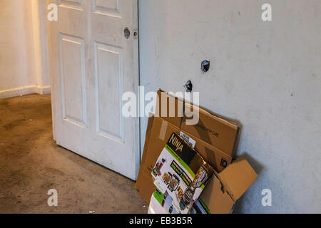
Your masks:
<svg viewBox="0 0 321 228"><path fill-rule="evenodd" d="M97 132L124 142L123 115L121 115L122 50L102 43L95 43L95 46ZM108 99L104 99L106 97ZM108 118L105 116L106 113Z"/></svg>

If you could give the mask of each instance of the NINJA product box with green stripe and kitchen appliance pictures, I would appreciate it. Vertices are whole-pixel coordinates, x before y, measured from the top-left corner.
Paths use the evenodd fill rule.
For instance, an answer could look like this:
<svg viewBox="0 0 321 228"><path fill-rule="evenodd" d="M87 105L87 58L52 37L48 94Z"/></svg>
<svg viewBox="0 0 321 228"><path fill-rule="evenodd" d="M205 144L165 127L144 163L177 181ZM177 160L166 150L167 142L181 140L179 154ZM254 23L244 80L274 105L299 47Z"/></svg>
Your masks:
<svg viewBox="0 0 321 228"><path fill-rule="evenodd" d="M198 200L213 168L173 133L151 172L156 192L154 197L170 214L187 214Z"/></svg>

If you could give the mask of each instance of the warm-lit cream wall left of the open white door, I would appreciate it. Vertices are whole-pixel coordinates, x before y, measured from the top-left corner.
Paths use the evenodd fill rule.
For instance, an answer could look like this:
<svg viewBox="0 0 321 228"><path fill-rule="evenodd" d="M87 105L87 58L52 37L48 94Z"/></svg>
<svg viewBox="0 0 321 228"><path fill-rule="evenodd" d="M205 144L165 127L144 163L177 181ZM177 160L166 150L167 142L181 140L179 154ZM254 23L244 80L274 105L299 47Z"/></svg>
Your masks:
<svg viewBox="0 0 321 228"><path fill-rule="evenodd" d="M0 98L50 93L48 63L41 62L48 56L46 8L38 1L0 1Z"/></svg>

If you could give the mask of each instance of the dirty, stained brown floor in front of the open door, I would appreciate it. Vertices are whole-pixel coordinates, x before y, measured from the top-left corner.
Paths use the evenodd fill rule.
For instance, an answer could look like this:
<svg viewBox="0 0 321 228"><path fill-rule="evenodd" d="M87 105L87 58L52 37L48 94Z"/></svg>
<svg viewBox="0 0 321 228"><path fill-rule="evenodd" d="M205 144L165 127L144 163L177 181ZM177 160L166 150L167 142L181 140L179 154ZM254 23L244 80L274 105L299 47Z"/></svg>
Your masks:
<svg viewBox="0 0 321 228"><path fill-rule="evenodd" d="M56 145L50 99L0 100L0 213L146 213L133 181Z"/></svg>

